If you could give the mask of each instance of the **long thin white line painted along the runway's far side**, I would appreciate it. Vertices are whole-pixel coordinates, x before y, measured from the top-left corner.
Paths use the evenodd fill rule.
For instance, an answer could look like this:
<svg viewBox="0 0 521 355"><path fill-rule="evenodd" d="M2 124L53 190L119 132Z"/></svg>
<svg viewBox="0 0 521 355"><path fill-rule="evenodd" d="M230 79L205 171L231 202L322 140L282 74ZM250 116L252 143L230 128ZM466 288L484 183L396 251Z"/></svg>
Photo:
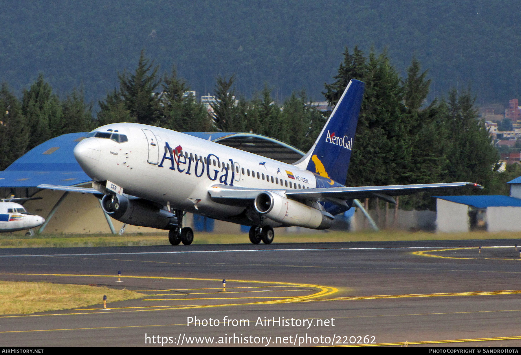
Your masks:
<svg viewBox="0 0 521 355"><path fill-rule="evenodd" d="M511 248L512 246L492 246L481 248ZM20 254L0 255L0 258L19 257L77 257L77 256L99 256L99 255L147 255L147 254L189 254L189 253L216 253L216 252L269 252L269 251L334 251L334 250L400 250L400 249L433 249L433 248L478 248L476 246L436 246L436 247L379 247L379 248L302 248L302 249L232 249L232 250L187 250L187 251L137 251L137 252L100 252L100 253L77 253L77 254Z"/></svg>

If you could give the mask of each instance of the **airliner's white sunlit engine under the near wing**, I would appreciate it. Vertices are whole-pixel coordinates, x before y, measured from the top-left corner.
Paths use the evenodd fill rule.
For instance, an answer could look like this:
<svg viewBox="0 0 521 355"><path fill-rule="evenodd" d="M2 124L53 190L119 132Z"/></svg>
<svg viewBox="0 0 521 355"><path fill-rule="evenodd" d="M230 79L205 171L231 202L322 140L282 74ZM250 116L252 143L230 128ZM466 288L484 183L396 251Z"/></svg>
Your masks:
<svg viewBox="0 0 521 355"><path fill-rule="evenodd" d="M334 217L326 211L320 211L272 192L258 194L255 197L254 207L258 213L286 225L328 229L334 220Z"/></svg>

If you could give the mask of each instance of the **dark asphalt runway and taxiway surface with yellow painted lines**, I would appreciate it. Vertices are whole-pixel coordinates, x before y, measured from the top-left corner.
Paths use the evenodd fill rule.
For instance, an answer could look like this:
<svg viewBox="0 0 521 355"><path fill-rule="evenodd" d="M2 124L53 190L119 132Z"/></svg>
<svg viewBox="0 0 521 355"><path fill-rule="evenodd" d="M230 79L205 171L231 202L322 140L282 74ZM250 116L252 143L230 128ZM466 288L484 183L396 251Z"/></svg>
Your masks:
<svg viewBox="0 0 521 355"><path fill-rule="evenodd" d="M0 316L0 345L521 346L514 243L0 249L0 280L147 295Z"/></svg>

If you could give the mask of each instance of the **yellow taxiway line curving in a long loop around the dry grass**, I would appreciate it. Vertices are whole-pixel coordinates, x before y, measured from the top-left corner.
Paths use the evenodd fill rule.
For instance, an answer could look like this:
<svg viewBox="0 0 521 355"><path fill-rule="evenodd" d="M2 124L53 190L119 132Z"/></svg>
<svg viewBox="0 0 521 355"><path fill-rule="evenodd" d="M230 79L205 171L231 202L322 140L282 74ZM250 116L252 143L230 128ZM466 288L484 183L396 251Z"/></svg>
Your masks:
<svg viewBox="0 0 521 355"><path fill-rule="evenodd" d="M91 275L91 274L35 274L35 273L0 273L0 275L18 275L18 276L73 276L73 277L110 277L114 278L114 275ZM131 276L121 275L121 278L138 278L138 279L155 279L155 280L189 280L189 281L213 281L220 282L221 279L216 278L198 278L198 277L169 277L169 276ZM153 309L134 309L129 311L101 311L101 312L82 312L82 313L55 313L55 314L30 314L30 315L7 315L0 316L0 318L14 318L14 317L27 317L27 316L51 316L51 315L71 315L71 314L92 314L92 313L111 313L111 312L145 312L145 311L157 311L157 310L172 310L172 309L196 309L196 308L214 308L214 307L232 307L232 306L247 306L247 305L272 305L278 303L293 303L293 302L307 302L312 301L319 297L325 297L338 292L338 288L330 286L320 286L313 284L297 284L292 282L280 282L280 281L254 281L254 280L232 280L228 282L246 283L246 284L263 284L263 285L277 285L281 287L303 287L311 288L315 290L315 293L305 296L286 296L286 297L247 297L249 299L269 299L265 301L252 301L246 303L223 303L219 305L201 305L201 306L181 306L172 308L171 306L157 306L160 308ZM261 286L263 288L269 286ZM225 293L223 293L225 295ZM277 298L277 299L275 299ZM204 300L206 298L195 298L194 300ZM215 298L215 299L241 299L241 298ZM158 299L163 301L165 299ZM175 300L187 300L187 298L179 298ZM165 308L169 307L169 308ZM110 307L109 307L110 308Z"/></svg>

